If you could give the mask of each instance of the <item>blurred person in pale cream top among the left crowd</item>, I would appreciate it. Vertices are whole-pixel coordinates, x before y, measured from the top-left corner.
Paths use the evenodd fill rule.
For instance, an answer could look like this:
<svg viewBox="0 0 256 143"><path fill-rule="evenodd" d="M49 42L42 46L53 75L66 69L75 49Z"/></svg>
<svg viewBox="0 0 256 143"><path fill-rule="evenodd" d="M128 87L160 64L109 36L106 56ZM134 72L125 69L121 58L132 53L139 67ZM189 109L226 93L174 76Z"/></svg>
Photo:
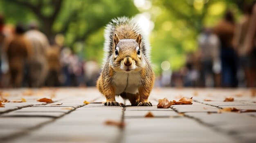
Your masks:
<svg viewBox="0 0 256 143"><path fill-rule="evenodd" d="M41 87L45 83L48 71L46 51L49 48L49 41L45 34L38 30L36 23L29 25L29 31L25 35L33 49L29 62L29 84L31 87Z"/></svg>

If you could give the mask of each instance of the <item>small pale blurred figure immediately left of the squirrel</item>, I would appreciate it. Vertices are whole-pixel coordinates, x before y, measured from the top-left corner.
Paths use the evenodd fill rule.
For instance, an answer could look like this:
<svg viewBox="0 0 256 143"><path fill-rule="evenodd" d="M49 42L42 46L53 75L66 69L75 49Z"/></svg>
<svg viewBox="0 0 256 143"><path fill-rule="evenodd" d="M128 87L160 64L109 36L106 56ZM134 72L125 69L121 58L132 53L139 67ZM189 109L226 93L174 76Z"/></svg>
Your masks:
<svg viewBox="0 0 256 143"><path fill-rule="evenodd" d="M96 86L96 81L100 75L100 67L95 60L85 62L83 71L85 75L86 86Z"/></svg>

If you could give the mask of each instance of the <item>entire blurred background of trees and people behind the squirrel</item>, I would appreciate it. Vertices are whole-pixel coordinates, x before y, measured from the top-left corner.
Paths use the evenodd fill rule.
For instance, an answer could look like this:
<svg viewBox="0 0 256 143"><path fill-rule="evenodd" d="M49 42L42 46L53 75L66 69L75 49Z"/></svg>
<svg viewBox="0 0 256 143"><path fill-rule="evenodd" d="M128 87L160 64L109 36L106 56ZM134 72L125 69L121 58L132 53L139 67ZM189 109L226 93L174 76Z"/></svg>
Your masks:
<svg viewBox="0 0 256 143"><path fill-rule="evenodd" d="M104 26L134 17L155 87L255 87L255 0L0 0L0 87L95 86Z"/></svg>

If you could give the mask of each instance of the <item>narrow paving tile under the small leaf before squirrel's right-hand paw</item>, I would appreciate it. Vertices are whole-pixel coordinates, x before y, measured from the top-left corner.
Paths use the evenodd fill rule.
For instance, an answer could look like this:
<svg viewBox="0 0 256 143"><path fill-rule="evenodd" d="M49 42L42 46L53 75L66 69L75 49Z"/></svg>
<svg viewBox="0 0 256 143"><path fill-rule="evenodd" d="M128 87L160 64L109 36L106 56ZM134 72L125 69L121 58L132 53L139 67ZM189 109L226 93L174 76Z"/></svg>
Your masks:
<svg viewBox="0 0 256 143"><path fill-rule="evenodd" d="M124 112L124 117L129 117L129 118L135 118L135 117L145 117L146 114L148 114L149 111L146 110L138 110L138 111L125 111ZM150 111L154 117L177 117L179 116L179 114L175 111L168 111L168 110L164 110L164 111Z"/></svg>

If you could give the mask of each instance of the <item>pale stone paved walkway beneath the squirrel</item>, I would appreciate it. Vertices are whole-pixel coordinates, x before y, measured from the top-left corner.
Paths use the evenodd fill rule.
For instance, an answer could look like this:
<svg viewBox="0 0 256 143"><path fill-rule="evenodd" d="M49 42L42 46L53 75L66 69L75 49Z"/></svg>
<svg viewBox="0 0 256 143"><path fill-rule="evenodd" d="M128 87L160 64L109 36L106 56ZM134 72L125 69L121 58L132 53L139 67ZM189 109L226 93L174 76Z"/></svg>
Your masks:
<svg viewBox="0 0 256 143"><path fill-rule="evenodd" d="M27 102L3 103L0 143L255 143L256 112L218 113L225 107L255 110L253 95L255 90L247 89L154 88L153 107L106 107L95 88L2 90L1 96L10 101L23 97ZM229 96L235 100L223 102ZM54 103L36 101L44 97ZM164 97L194 101L157 109L157 99ZM85 100L93 103L85 105ZM148 112L154 117L145 117Z"/></svg>

